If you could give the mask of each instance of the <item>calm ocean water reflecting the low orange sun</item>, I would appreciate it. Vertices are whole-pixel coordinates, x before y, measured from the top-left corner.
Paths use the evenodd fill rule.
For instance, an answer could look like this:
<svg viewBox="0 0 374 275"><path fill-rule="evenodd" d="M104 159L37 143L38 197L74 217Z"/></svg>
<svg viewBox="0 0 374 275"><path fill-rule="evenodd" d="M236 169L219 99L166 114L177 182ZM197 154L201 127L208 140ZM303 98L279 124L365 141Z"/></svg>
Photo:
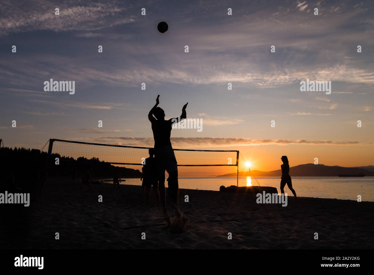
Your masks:
<svg viewBox="0 0 374 275"><path fill-rule="evenodd" d="M256 177L261 186L273 186L280 192L280 177ZM121 184L141 185L139 178L126 178ZM165 182L167 185L167 182ZM236 177L180 177L179 188L220 190L220 186L236 185ZM239 177L239 186L257 185L254 177ZM374 177L292 177L292 187L297 196L374 201ZM285 193L292 196L288 187Z"/></svg>

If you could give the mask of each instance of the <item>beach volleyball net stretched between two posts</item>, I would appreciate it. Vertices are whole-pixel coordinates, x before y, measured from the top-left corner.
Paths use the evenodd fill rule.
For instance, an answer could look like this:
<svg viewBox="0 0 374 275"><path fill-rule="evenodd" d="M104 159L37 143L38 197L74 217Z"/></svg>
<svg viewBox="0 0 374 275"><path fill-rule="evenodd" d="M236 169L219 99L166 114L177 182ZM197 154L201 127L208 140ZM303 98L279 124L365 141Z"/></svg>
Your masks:
<svg viewBox="0 0 374 275"><path fill-rule="evenodd" d="M48 159L64 161L103 161L117 165L143 165L151 147L88 143L50 139ZM174 149L178 166L238 166L239 151Z"/></svg>

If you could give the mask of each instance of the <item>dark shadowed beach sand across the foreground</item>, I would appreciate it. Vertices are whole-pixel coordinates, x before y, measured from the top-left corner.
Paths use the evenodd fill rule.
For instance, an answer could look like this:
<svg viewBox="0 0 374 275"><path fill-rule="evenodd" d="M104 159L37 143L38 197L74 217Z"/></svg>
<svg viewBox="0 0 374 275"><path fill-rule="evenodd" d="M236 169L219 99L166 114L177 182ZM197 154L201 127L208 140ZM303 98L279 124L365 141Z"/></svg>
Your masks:
<svg viewBox="0 0 374 275"><path fill-rule="evenodd" d="M144 205L141 186L113 191L112 184L94 184L82 193L79 186L49 180L40 198L32 195L30 207L18 207L14 220L1 220L0 248L374 248L374 202L289 196L282 207L257 204L255 196L244 193L180 189L181 212L191 222L185 232L172 234L160 225L162 208L156 207L154 193L150 207ZM174 218L171 207L169 212Z"/></svg>

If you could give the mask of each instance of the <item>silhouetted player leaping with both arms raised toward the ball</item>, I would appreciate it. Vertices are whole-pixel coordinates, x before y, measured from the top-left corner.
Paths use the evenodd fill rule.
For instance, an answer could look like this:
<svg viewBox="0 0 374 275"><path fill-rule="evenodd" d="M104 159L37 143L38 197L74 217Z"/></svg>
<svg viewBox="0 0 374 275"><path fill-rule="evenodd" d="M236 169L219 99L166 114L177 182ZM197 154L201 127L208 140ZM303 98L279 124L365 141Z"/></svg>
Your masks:
<svg viewBox="0 0 374 275"><path fill-rule="evenodd" d="M165 189L165 170L169 174L169 196L171 199L172 207L175 209L175 215L177 218L181 218L179 211L178 202L178 166L177 160L175 159L174 150L170 142L170 134L173 121L175 118L165 120L165 112L159 105L159 97L157 95L156 105L148 113L148 119L152 125L153 138L154 138L154 155L157 164L157 178L159 180L159 190L161 196L161 202L163 206L163 216L166 221L166 227L172 226L168 208L166 207L166 189ZM180 120L186 119L186 107L188 102L182 108L182 114ZM154 117L153 117L154 115ZM156 117L156 118L155 118Z"/></svg>

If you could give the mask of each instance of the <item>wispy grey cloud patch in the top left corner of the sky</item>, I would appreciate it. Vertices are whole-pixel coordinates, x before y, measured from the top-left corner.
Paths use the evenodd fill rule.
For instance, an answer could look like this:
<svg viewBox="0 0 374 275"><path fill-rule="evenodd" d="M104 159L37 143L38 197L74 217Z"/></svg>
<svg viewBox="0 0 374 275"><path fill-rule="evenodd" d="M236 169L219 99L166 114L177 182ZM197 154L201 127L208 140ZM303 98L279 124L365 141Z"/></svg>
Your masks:
<svg viewBox="0 0 374 275"><path fill-rule="evenodd" d="M68 0L58 4L44 0L1 3L0 31L3 34L27 30L93 31L108 26L134 22L136 15L126 12L128 5L112 0L111 3ZM20 9L19 7L22 7ZM59 15L55 15L55 8ZM27 10L27 12L24 12Z"/></svg>

